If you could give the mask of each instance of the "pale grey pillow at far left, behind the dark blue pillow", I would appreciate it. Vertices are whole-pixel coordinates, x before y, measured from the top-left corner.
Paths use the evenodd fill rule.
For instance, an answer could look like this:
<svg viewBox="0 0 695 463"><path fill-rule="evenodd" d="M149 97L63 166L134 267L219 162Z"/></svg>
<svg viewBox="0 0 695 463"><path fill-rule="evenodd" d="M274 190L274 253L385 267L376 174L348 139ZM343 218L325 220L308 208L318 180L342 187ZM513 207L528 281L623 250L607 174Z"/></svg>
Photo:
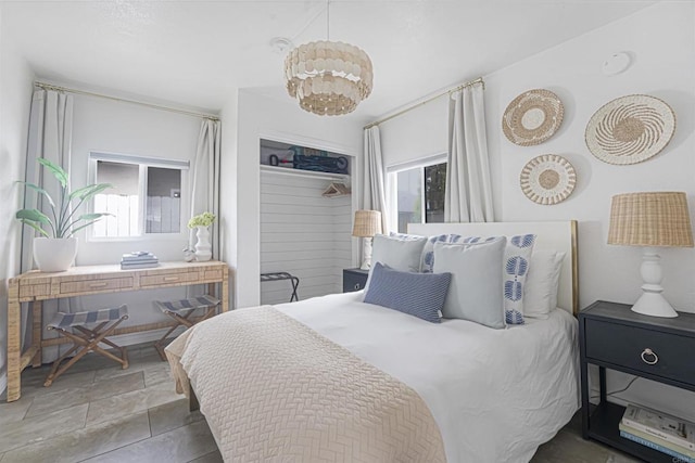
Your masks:
<svg viewBox="0 0 695 463"><path fill-rule="evenodd" d="M387 236L377 234L374 236L371 248L371 266L377 262L401 272L419 272L420 256L427 237L416 235ZM371 270L365 283L365 293L369 288Z"/></svg>

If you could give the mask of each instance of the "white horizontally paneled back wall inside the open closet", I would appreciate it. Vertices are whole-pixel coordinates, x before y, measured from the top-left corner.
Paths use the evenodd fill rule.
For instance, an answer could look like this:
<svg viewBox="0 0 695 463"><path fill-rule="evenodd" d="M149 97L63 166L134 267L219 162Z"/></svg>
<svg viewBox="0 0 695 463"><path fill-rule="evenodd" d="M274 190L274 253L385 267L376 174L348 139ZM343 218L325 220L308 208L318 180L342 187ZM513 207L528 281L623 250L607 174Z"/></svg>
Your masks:
<svg viewBox="0 0 695 463"><path fill-rule="evenodd" d="M261 172L261 272L300 279L300 300L342 292L352 262L352 200L324 197L331 180ZM289 281L263 282L261 304L290 300Z"/></svg>

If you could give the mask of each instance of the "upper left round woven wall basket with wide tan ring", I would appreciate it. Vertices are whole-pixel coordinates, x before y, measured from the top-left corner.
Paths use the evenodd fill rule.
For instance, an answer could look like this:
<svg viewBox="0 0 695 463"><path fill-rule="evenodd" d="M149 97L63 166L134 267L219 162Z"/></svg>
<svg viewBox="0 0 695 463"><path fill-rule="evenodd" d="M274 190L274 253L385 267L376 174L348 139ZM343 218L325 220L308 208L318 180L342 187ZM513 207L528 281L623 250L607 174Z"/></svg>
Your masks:
<svg viewBox="0 0 695 463"><path fill-rule="evenodd" d="M549 90L529 90L515 98L502 116L502 131L511 143L532 146L553 137L565 107Z"/></svg>

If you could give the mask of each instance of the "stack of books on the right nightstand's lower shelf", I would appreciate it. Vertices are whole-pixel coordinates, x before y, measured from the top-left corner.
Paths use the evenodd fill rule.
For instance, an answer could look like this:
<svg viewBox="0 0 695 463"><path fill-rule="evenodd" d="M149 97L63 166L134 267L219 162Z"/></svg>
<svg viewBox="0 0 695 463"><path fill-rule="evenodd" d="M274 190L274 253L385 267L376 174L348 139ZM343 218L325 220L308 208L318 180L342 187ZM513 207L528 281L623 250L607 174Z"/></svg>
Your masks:
<svg viewBox="0 0 695 463"><path fill-rule="evenodd" d="M618 427L626 439L674 456L673 461L695 463L695 423L628 406Z"/></svg>

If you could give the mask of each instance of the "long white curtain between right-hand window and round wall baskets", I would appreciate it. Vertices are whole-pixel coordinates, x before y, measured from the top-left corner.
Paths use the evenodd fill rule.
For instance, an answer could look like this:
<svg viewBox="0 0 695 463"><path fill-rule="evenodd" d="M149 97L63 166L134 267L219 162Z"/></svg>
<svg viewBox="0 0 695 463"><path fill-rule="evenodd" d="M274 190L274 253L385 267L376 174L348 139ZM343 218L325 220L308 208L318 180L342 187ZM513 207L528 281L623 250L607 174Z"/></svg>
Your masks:
<svg viewBox="0 0 695 463"><path fill-rule="evenodd" d="M452 94L446 162L444 221L493 221L482 83Z"/></svg>

